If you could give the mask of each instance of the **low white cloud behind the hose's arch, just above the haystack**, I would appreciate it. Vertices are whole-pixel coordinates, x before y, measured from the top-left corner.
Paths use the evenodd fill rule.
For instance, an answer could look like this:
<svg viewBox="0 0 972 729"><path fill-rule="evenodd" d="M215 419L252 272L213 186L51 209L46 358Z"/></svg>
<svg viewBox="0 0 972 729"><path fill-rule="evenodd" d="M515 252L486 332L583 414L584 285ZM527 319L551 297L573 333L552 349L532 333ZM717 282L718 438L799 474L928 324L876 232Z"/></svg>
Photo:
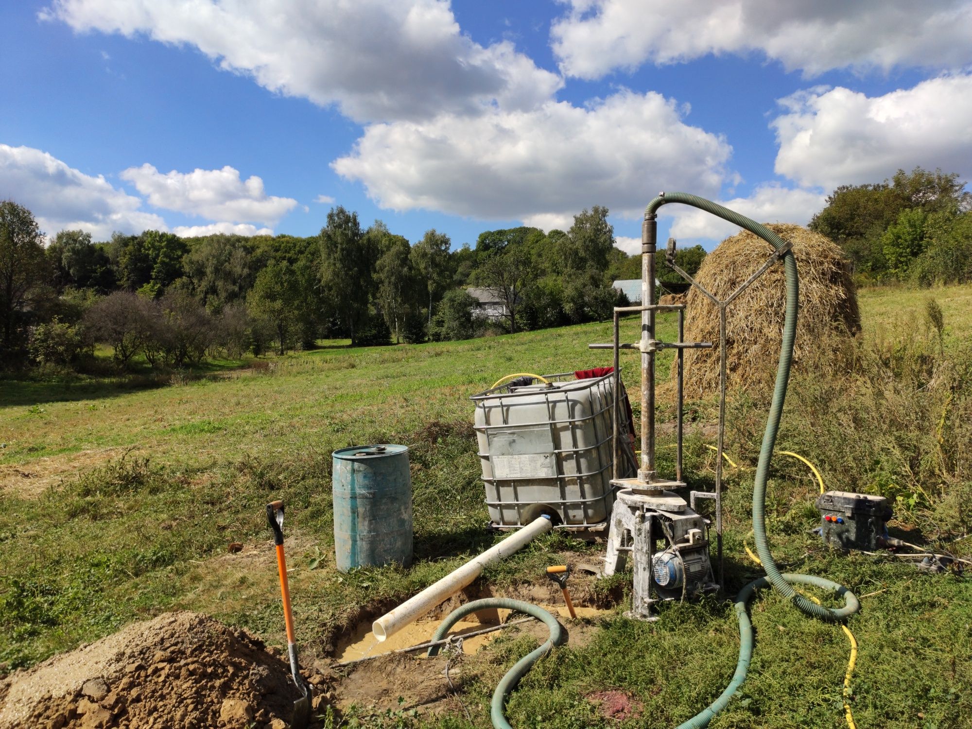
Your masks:
<svg viewBox="0 0 972 729"><path fill-rule="evenodd" d="M718 201L757 223L795 223L798 226L810 223L825 202L826 196L820 191L793 190L775 183L760 185L747 197ZM739 226L687 205L665 205L659 214L675 219L670 235L676 240L721 240L739 230Z"/></svg>

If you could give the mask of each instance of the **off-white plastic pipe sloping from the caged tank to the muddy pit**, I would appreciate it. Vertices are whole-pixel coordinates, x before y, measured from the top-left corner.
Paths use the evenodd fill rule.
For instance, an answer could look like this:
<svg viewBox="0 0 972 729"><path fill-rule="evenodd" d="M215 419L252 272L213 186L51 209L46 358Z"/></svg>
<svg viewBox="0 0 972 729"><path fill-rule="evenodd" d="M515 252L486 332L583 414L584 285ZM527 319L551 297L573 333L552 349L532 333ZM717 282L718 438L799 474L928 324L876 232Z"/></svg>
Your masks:
<svg viewBox="0 0 972 729"><path fill-rule="evenodd" d="M371 624L371 632L379 642L395 635L409 623L422 617L439 603L443 603L482 573L483 568L499 562L513 552L523 548L533 538L553 529L549 516L539 516L518 532L490 547L478 557L469 560L455 572L448 573L440 580L425 588L418 595L409 598L391 612L387 612Z"/></svg>

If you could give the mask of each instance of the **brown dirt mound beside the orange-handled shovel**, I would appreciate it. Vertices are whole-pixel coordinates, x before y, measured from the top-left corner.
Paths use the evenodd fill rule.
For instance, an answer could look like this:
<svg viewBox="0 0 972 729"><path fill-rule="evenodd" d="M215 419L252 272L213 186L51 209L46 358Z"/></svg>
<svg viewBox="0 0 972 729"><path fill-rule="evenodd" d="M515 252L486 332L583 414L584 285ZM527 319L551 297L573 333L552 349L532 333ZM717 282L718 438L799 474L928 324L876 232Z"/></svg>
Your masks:
<svg viewBox="0 0 972 729"><path fill-rule="evenodd" d="M298 689L260 640L168 612L0 682L0 728L273 727Z"/></svg>

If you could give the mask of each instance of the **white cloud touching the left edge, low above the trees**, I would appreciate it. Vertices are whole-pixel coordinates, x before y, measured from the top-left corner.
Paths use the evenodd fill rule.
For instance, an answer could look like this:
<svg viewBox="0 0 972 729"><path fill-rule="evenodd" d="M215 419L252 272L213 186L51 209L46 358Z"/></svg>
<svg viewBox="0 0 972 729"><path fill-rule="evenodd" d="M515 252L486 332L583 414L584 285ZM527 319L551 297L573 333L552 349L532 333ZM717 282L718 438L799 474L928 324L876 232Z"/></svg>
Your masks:
<svg viewBox="0 0 972 729"><path fill-rule="evenodd" d="M168 229L160 217L140 209L140 198L32 147L0 144L0 199L28 208L49 236L81 229L107 240L116 230Z"/></svg>

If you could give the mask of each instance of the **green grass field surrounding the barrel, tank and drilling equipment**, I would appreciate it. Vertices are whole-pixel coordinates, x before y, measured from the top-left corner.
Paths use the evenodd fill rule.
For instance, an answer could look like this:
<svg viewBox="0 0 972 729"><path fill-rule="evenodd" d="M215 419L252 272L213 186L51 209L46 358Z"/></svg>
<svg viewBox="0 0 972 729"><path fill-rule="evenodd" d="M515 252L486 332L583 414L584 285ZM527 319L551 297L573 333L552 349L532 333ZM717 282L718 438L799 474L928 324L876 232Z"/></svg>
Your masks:
<svg viewBox="0 0 972 729"><path fill-rule="evenodd" d="M947 346L972 341L972 287L864 291L863 337L895 339L924 328L929 296L942 306ZM622 339L637 338L637 321L622 326ZM660 333L671 337L674 320L662 318ZM263 504L276 498L289 507L300 640L308 652L327 655L342 630L492 543L483 530L487 514L469 396L508 372L609 364L608 352L586 348L609 336L609 325L596 324L419 346L351 349L326 342L281 358L219 363L167 383L146 376L0 380L0 661L8 671L28 666L169 608L205 611L282 643L263 515ZM637 364L628 356L623 376L637 389ZM663 361L661 376L669 364ZM712 402L693 407L695 417L709 419ZM666 412L663 407L662 417ZM787 418L797 416L787 411ZM789 426L800 431L799 423ZM811 460L832 463L826 453L808 451L797 434L793 438ZM332 555L330 453L369 442L411 447L416 564L409 571L340 575ZM665 458L662 469L671 468ZM686 471L693 486L711 485L712 455L699 437L689 441ZM824 477L852 482L853 472L834 466ZM726 592L734 595L759 571L743 543L751 472L731 470L727 481ZM967 582L919 573L889 558L828 553L808 534L816 520L808 506L814 489L800 469L781 469L771 482L769 524L774 551L789 570L827 576L858 595L874 593L850 623L860 642L853 681L857 725L968 725ZM918 516L904 516L902 527L921 529ZM230 541L244 542L244 552L227 555ZM589 561L597 557L588 545L550 535L485 579L499 591L513 589L539 579L543 566L578 553ZM843 726L844 635L774 594L759 596L752 615L757 644L749 677L712 726ZM527 641L504 637L469 659L463 688L474 725L489 725L492 688ZM618 608L589 642L569 644L541 662L508 713L515 726L613 725L585 696L616 688L643 705L640 718L622 726L672 726L718 695L738 644L731 603L712 597L666 608L653 624L628 621ZM469 725L462 712L420 712L416 720Z"/></svg>

